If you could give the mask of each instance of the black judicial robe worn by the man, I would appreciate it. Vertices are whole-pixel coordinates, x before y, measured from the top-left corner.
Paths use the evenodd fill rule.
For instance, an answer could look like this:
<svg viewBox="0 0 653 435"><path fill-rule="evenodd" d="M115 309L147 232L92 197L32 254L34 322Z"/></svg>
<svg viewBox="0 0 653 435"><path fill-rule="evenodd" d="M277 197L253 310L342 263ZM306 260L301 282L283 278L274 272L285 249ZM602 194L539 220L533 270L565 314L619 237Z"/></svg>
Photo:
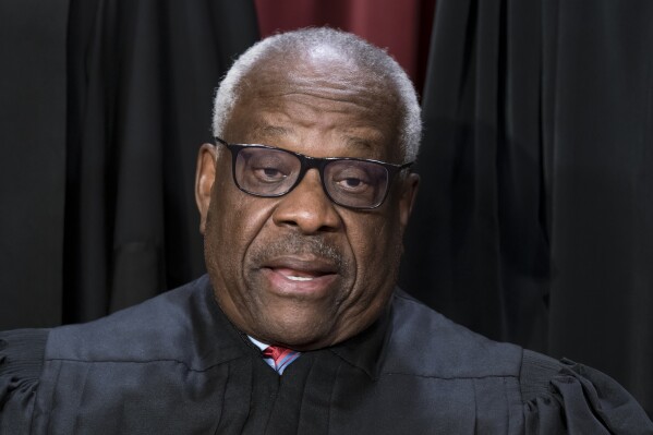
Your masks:
<svg viewBox="0 0 653 435"><path fill-rule="evenodd" d="M205 276L109 317L0 335L1 434L652 434L606 375L491 341L400 290L278 376Z"/></svg>

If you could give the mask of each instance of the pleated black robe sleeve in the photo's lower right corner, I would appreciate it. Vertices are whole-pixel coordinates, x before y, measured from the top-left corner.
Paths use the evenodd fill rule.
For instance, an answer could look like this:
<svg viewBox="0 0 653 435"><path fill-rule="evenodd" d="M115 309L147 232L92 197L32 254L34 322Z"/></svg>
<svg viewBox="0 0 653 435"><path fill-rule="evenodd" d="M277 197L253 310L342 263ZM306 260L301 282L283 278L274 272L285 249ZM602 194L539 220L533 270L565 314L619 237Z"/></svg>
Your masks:
<svg viewBox="0 0 653 435"><path fill-rule="evenodd" d="M527 434L653 434L653 423L609 376L569 360L524 351Z"/></svg>

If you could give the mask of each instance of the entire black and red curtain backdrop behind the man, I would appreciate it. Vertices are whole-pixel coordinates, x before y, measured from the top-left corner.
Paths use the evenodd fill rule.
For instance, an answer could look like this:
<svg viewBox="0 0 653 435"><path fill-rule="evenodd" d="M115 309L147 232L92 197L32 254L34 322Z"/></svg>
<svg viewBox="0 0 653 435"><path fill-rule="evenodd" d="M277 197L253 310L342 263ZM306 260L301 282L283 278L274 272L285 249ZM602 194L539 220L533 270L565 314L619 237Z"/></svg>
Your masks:
<svg viewBox="0 0 653 435"><path fill-rule="evenodd" d="M215 87L261 36L329 24L422 94L402 287L653 414L652 22L648 0L1 0L0 329L202 275Z"/></svg>

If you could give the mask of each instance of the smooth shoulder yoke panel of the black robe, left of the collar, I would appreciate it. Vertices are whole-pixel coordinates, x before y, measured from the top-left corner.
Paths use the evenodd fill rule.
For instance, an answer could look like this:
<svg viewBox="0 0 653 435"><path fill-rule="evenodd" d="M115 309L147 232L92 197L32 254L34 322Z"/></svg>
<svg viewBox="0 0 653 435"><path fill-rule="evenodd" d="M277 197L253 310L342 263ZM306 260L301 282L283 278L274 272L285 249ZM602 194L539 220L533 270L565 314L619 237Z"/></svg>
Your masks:
<svg viewBox="0 0 653 435"><path fill-rule="evenodd" d="M206 276L98 321L52 329L46 361L196 363L197 339L215 321ZM208 302L208 303L207 303ZM216 336L217 339L217 336Z"/></svg>

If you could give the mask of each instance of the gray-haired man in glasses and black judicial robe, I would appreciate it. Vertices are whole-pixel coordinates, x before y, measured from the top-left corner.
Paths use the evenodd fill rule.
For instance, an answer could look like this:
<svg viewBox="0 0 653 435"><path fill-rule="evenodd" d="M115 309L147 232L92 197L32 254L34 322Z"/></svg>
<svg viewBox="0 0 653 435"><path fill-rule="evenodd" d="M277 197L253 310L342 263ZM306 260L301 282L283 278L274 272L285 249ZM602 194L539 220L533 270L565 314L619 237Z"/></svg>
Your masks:
<svg viewBox="0 0 653 435"><path fill-rule="evenodd" d="M395 288L414 89L321 28L230 70L198 157L208 278L0 336L2 433L653 433L605 375L497 343Z"/></svg>

